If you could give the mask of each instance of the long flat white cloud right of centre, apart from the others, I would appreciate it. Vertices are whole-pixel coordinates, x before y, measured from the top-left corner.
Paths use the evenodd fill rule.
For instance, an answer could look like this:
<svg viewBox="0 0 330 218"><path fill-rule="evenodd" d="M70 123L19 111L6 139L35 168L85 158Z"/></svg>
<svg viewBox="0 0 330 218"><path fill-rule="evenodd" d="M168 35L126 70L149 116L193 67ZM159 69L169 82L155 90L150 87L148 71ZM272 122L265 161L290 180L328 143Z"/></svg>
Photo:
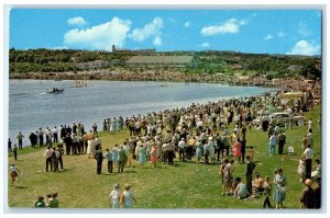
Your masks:
<svg viewBox="0 0 330 218"><path fill-rule="evenodd" d="M211 36L217 34L235 34L240 32L240 26L245 25L246 21L238 21L237 19L230 19L220 25L210 25L202 27L200 33L205 36Z"/></svg>

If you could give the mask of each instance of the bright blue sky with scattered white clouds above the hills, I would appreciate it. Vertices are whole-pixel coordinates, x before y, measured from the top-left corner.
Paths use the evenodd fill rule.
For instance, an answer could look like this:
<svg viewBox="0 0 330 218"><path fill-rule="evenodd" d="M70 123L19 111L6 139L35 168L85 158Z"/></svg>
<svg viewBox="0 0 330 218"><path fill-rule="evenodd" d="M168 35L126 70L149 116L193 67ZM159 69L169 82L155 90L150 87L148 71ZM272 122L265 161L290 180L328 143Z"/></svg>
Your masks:
<svg viewBox="0 0 330 218"><path fill-rule="evenodd" d="M307 9L13 8L9 47L320 55L321 16Z"/></svg>

